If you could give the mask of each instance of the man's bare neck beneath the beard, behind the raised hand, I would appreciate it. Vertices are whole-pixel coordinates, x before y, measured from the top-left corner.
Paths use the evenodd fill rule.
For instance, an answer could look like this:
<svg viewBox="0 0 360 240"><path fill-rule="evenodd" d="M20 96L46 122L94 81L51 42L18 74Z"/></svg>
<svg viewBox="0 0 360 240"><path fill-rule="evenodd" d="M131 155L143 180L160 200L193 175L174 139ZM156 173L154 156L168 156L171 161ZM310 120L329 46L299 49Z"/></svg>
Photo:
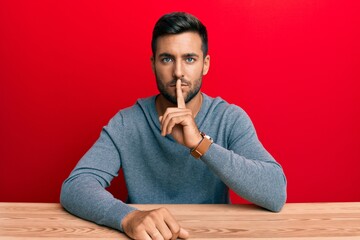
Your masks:
<svg viewBox="0 0 360 240"><path fill-rule="evenodd" d="M186 103L186 108L191 110L194 117L200 111L201 104L202 104L202 98L203 98L203 96L202 96L201 92L199 91L198 94L196 94L196 96L193 97L193 99L191 99L191 101ZM156 97L155 103L156 103L156 111L158 112L159 116L164 115L167 108L169 108L169 107L175 107L176 108L177 107L176 104L168 101L161 94L159 94Z"/></svg>

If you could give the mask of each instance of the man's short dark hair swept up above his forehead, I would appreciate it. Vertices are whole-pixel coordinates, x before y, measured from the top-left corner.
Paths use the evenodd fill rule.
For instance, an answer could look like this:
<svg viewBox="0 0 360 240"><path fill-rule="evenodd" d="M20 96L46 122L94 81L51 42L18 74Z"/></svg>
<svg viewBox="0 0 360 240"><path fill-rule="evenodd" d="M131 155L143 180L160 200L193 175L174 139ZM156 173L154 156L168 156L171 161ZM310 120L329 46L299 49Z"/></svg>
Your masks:
<svg viewBox="0 0 360 240"><path fill-rule="evenodd" d="M206 27L195 16L185 12L165 14L156 22L151 40L153 56L155 56L156 52L156 40L159 37L183 32L197 32L200 35L201 50L205 57L208 52Z"/></svg>

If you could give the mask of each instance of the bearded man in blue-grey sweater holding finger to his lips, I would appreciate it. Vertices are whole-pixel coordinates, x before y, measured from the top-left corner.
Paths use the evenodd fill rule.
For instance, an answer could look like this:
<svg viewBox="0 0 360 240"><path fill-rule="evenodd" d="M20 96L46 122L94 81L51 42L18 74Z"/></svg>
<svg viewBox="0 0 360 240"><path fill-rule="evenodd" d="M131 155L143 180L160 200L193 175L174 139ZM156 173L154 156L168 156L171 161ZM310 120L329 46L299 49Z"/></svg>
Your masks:
<svg viewBox="0 0 360 240"><path fill-rule="evenodd" d="M65 180L71 213L134 239L187 238L164 209L139 211L104 188L123 169L127 203L229 203L228 189L280 211L281 166L259 142L246 113L200 92L210 67L205 26L187 13L155 25L151 58L160 94L121 110ZM211 138L209 137L211 136Z"/></svg>

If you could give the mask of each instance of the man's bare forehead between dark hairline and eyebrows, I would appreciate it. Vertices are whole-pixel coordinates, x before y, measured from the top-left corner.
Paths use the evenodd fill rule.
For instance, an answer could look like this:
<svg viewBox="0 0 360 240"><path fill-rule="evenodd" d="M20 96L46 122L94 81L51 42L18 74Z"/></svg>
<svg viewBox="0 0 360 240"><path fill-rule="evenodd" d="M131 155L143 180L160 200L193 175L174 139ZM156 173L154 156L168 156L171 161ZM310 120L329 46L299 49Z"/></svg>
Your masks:
<svg viewBox="0 0 360 240"><path fill-rule="evenodd" d="M197 53L202 56L201 37L196 32L161 36L156 41L156 55L169 53L174 56Z"/></svg>

